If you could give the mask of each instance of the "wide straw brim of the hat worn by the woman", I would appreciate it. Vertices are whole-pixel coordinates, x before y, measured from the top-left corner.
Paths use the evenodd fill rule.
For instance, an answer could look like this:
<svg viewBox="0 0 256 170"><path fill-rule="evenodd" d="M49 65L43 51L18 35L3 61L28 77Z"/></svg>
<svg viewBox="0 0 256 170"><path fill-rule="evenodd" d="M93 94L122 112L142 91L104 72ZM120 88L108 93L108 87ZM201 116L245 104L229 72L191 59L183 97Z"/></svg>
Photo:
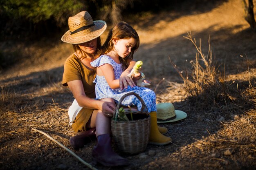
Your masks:
<svg viewBox="0 0 256 170"><path fill-rule="evenodd" d="M80 31L80 32L76 33L76 36L72 36L70 34L70 30L68 30L61 37L61 40L63 42L67 42L70 44L81 44L81 43L93 40L93 39L99 37L107 28L106 22L101 21L101 20L94 21L94 24L95 24L94 31L91 31L90 33L83 33L83 31ZM73 35L75 35L75 34L73 34Z"/></svg>

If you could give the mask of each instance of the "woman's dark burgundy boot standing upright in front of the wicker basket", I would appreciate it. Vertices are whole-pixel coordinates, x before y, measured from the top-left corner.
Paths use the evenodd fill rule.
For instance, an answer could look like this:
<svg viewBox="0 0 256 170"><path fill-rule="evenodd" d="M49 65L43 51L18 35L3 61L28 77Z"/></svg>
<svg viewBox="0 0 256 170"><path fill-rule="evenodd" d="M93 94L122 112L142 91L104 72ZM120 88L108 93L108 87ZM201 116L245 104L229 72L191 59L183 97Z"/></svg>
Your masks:
<svg viewBox="0 0 256 170"><path fill-rule="evenodd" d="M97 137L98 143L92 150L92 161L104 166L125 166L129 162L127 159L120 157L112 149L110 134L99 135Z"/></svg>

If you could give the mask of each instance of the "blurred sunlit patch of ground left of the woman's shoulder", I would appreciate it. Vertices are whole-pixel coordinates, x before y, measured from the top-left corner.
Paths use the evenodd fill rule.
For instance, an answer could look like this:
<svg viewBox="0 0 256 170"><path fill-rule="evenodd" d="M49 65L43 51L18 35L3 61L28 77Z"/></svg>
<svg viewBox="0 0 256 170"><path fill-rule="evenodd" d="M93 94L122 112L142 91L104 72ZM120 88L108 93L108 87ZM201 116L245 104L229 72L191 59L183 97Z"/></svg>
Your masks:
<svg viewBox="0 0 256 170"><path fill-rule="evenodd" d="M50 40L47 40L50 41ZM45 41L38 41L33 44L22 44L18 50L20 53L20 60L11 67L5 68L0 73L0 80L26 77L33 75L33 73L50 71L51 69L60 67L63 68L66 58L71 55L72 45L67 43L50 44ZM6 47L6 51L10 48ZM62 73L61 73L62 74ZM62 77L61 77L62 78Z"/></svg>

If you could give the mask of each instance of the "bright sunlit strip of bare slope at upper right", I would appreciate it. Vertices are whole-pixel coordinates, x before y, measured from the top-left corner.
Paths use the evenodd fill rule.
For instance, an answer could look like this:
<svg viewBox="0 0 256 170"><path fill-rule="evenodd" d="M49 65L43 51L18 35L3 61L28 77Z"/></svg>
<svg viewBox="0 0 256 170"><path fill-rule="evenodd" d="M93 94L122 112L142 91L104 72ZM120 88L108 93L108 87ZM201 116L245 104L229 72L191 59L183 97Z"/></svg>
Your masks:
<svg viewBox="0 0 256 170"><path fill-rule="evenodd" d="M224 14L223 11L225 11ZM236 28L235 26L237 25L239 27L231 30L232 33L237 33L249 27L247 22L243 20L244 12L239 1L226 2L217 9L206 11L205 13L195 13L179 18L172 17L172 15L172 13L167 12L160 14L158 18L153 18L155 24L148 26L147 29L139 26L135 27L140 36L141 44L145 46L158 44L161 41L184 35L187 31L205 31L207 34L212 35L211 32L232 28L233 26ZM161 17L163 19L159 20ZM150 18L150 22L152 22L151 20L152 18Z"/></svg>

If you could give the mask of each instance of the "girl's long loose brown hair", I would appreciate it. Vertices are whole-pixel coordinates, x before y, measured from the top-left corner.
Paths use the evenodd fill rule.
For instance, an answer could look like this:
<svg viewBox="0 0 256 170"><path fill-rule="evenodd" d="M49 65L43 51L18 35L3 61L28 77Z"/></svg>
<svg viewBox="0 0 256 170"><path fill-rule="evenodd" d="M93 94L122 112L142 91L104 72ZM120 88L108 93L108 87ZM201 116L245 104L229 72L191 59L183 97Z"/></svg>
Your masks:
<svg viewBox="0 0 256 170"><path fill-rule="evenodd" d="M129 55L127 55L125 58L120 57L123 70L125 70L129 66L130 61L132 61L134 52L139 48L139 35L135 29L133 29L132 26L126 22L121 21L117 23L116 26L109 31L108 37L97 56L99 57L99 55L106 54L114 50L113 39L120 40L130 38L134 38L137 43L132 47L132 51Z"/></svg>

